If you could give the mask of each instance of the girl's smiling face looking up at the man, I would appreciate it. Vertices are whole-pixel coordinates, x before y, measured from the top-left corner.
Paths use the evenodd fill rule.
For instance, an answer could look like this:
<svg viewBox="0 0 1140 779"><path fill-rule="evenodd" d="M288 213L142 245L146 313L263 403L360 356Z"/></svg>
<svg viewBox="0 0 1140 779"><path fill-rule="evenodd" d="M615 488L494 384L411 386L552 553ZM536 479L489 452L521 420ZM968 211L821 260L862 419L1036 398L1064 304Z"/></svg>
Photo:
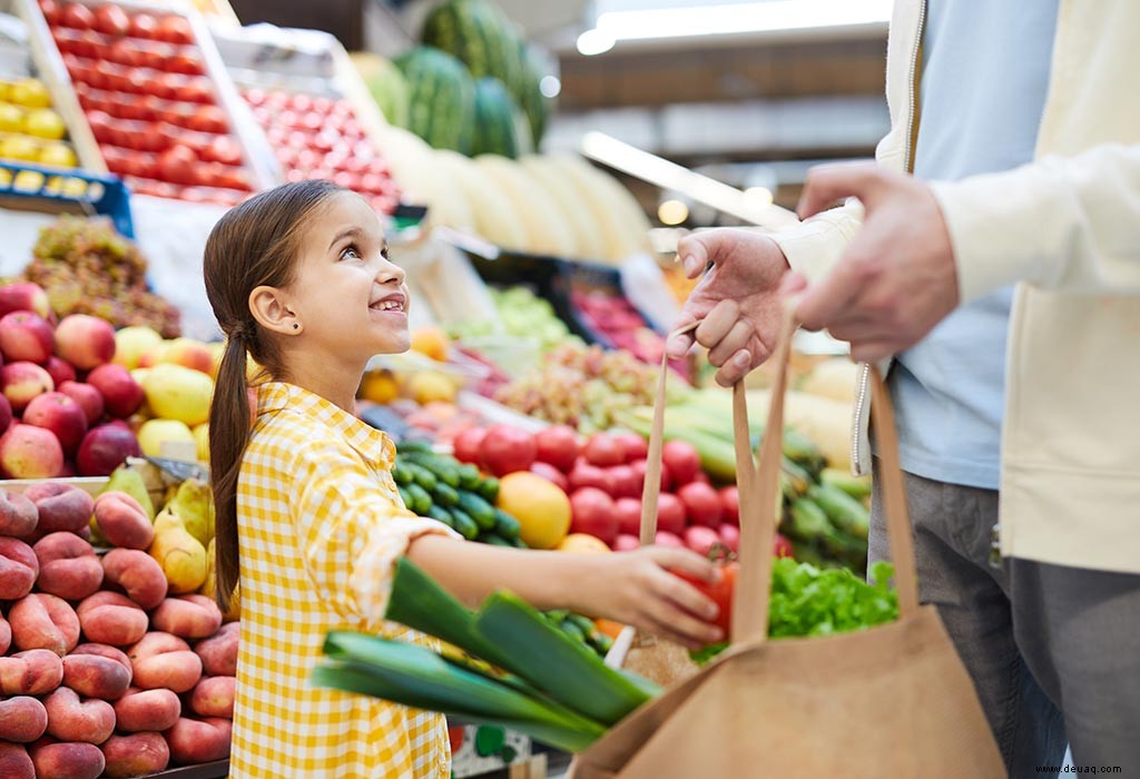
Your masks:
<svg viewBox="0 0 1140 779"><path fill-rule="evenodd" d="M333 196L311 220L287 295L298 341L331 360L363 363L410 344L404 270L388 259L376 213L352 192Z"/></svg>

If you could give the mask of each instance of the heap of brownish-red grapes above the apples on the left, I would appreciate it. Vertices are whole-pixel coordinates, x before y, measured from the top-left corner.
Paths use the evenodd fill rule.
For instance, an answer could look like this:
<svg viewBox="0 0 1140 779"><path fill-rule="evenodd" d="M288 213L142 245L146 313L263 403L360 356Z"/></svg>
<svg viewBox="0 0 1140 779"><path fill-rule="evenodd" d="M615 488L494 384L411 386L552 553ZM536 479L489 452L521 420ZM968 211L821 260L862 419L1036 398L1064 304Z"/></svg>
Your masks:
<svg viewBox="0 0 1140 779"><path fill-rule="evenodd" d="M178 309L147 288L146 271L142 253L106 219L63 216L40 231L24 278L43 287L57 317L146 325L174 338L181 334Z"/></svg>

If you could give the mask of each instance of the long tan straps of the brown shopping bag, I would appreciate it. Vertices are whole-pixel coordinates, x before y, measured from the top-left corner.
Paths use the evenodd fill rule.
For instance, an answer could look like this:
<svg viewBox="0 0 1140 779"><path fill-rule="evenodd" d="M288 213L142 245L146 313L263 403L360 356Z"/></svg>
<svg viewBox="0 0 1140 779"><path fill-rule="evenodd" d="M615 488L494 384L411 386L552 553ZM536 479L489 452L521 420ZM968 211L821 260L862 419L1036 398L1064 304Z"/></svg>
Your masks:
<svg viewBox="0 0 1140 779"><path fill-rule="evenodd" d="M690 333L699 322L676 330ZM768 404L766 432L760 442L759 465L752 459L748 428L747 394L743 382L732 388L733 438L736 454L736 485L740 493L740 572L733 594L732 643L760 642L767 639L768 607L772 592L772 547L780 524L782 494L780 465L782 462L783 408L788 384L788 360L791 339L798 323L791 309L784 315L775 360L775 376ZM645 485L642 490L641 543L653 543L657 536L657 507L661 490L661 449L665 445L665 387L668 362L663 359L653 403L653 425L650 429L645 465ZM881 494L887 516L887 538L895 565L895 587L898 591L899 613L914 614L919 607L918 573L914 564L914 542L906 511L906 493L898 464L898 436L890 396L878 369L871 366L871 420L879 443Z"/></svg>

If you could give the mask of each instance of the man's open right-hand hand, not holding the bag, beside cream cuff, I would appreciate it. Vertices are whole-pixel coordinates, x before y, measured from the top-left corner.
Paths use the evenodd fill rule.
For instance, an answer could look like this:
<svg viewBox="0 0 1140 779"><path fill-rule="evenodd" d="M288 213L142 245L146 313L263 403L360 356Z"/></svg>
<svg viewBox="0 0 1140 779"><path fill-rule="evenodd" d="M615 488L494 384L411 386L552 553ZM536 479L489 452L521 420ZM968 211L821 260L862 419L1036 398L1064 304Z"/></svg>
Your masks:
<svg viewBox="0 0 1140 779"><path fill-rule="evenodd" d="M842 260L800 298L796 315L881 360L921 341L959 303L954 249L930 188L871 163L812 169L799 202L807 219L845 197L866 210Z"/></svg>

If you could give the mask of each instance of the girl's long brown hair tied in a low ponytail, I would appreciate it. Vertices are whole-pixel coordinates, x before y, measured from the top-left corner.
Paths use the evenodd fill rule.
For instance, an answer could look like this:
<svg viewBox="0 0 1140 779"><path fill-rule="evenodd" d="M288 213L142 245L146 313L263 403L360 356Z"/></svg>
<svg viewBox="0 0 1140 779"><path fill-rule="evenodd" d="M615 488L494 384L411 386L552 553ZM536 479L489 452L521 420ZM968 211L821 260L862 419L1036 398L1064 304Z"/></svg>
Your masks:
<svg viewBox="0 0 1140 779"><path fill-rule="evenodd" d="M226 213L206 240L206 296L226 334L210 407L210 482L217 512L215 597L229 609L241 565L237 546L237 478L251 426L246 352L274 378L282 375L277 342L250 311L250 293L286 287L293 278L307 218L344 191L327 181L270 189Z"/></svg>

